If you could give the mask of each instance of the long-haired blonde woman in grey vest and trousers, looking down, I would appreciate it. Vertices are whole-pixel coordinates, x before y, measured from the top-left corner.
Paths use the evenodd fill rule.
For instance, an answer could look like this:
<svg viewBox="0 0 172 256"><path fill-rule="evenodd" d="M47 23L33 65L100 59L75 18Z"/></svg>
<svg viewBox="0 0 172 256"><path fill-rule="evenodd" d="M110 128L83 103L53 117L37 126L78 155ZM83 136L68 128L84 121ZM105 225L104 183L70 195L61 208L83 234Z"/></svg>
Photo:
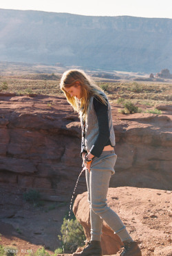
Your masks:
<svg viewBox="0 0 172 256"><path fill-rule="evenodd" d="M103 220L122 240L120 255L140 256L140 248L127 232L120 217L107 206L107 190L115 173L115 134L111 107L105 93L82 70L68 70L61 78L61 89L67 101L80 114L82 127L81 153L90 207L91 240L80 253L102 255L100 246Z"/></svg>

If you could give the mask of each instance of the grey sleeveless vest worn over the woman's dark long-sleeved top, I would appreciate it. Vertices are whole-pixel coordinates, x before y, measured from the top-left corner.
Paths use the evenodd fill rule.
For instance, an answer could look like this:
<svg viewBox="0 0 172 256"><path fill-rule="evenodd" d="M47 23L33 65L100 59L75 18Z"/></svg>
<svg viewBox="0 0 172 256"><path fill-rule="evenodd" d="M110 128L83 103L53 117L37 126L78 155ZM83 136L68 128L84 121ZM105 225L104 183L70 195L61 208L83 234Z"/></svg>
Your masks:
<svg viewBox="0 0 172 256"><path fill-rule="evenodd" d="M101 92L101 94L103 93ZM96 139L98 137L98 119L96 116L96 112L94 110L93 100L94 100L94 96L90 98L87 118L85 120L85 149L87 151L90 151L90 149L92 148L92 146L94 145L94 142L96 142ZM109 139L111 141L111 146L114 147L116 145L116 140L115 140L114 128L112 125L111 106L108 100L107 100L107 103L108 103L108 118L109 118L109 131L110 131ZM83 129L82 120L81 120L81 126Z"/></svg>

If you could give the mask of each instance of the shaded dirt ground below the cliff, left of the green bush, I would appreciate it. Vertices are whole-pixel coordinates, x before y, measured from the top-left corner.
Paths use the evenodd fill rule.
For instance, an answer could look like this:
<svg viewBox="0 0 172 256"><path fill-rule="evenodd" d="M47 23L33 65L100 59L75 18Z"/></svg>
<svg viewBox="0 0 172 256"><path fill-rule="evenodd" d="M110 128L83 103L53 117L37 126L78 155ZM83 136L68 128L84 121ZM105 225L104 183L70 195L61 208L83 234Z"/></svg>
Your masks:
<svg viewBox="0 0 172 256"><path fill-rule="evenodd" d="M63 218L69 203L26 202L23 191L0 188L0 244L18 250L17 256L35 253L44 247L50 255L60 246Z"/></svg>

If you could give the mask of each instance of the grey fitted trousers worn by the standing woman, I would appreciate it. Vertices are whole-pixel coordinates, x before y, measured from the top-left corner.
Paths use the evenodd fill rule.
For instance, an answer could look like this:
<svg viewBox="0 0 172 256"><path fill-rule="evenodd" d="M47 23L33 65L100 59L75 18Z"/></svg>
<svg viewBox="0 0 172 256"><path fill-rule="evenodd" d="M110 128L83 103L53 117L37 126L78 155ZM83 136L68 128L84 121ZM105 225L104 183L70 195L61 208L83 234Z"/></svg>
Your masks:
<svg viewBox="0 0 172 256"><path fill-rule="evenodd" d="M107 206L107 191L111 175L115 173L114 151L103 151L99 158L94 158L90 173L86 171L88 202L90 208L91 240L101 240L103 220L114 233L125 229L120 217Z"/></svg>

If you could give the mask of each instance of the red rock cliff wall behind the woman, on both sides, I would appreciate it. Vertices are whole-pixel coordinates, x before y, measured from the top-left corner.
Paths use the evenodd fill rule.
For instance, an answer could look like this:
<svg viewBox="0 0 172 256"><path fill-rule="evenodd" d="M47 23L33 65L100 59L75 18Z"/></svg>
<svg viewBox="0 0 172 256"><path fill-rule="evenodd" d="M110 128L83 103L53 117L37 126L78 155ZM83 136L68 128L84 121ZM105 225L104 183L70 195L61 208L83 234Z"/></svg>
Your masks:
<svg viewBox="0 0 172 256"><path fill-rule="evenodd" d="M69 201L81 171L80 122L64 96L0 94L0 182ZM171 189L171 109L162 115L117 113L116 174L110 186ZM76 193L86 191L81 175Z"/></svg>

